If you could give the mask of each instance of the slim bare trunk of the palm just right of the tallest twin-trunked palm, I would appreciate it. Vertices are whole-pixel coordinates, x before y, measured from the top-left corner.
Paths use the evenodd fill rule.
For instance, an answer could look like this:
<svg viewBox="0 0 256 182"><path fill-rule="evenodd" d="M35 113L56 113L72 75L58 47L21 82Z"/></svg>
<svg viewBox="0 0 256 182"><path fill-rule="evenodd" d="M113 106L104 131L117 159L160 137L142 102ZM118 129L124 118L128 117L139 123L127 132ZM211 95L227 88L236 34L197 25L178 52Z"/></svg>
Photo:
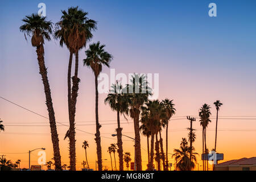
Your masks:
<svg viewBox="0 0 256 182"><path fill-rule="evenodd" d="M102 171L102 155L101 155L101 137L100 128L101 125L98 122L98 75L95 75L95 92L96 92L96 102L95 102L95 114L96 114L96 134L94 138L97 145L97 157L98 157L98 171ZM110 155L111 156L111 155Z"/></svg>

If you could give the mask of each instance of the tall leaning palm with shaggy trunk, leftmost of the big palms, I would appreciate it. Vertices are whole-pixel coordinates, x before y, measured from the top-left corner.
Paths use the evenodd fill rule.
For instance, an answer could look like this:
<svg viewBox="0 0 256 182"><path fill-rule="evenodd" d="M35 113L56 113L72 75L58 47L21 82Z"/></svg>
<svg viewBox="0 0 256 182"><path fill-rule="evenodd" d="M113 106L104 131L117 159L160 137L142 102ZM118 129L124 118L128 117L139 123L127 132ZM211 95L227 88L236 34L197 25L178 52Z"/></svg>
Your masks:
<svg viewBox="0 0 256 182"><path fill-rule="evenodd" d="M61 170L59 137L57 134L55 113L52 105L51 89L49 87L49 81L47 77L47 68L44 64L44 40L51 40L50 35L52 34L52 23L47 21L46 17L41 17L37 14L26 16L26 18L24 18L22 21L24 24L20 26L20 31L24 32L25 38L26 35L30 36L32 46L36 47L40 75L42 76L44 93L46 94L46 105L49 115L49 124L51 127L53 155L56 164L55 169L59 171Z"/></svg>

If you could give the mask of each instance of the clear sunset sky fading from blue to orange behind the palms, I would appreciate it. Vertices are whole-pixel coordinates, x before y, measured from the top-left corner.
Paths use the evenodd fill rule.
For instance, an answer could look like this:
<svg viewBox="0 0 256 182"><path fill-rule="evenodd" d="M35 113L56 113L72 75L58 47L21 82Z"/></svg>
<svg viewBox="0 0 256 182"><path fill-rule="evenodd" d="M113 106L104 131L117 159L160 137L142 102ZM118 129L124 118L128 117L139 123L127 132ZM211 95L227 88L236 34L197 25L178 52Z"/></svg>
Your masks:
<svg viewBox="0 0 256 182"><path fill-rule="evenodd" d="M115 74L159 74L158 98L174 100L177 110L168 131L171 154L179 147L181 138L187 137L189 122L184 116L197 116L205 103L212 106L207 144L209 149L214 147L216 109L213 102L221 100L217 151L224 153L224 161L255 156L255 1L1 1L0 96L47 116L35 48L19 31L24 16L37 13L41 2L46 4L47 19L53 23L60 20L61 10L68 7L79 6L88 11L88 17L97 21L97 30L90 43L106 44L106 51L114 57L110 68L115 69ZM208 5L212 2L217 5L216 17L208 15ZM90 134L77 131L77 169L85 160L84 140L89 142L91 168L95 168L97 160L93 135L96 132L94 75L90 69L82 67L86 48L79 52L81 83L76 128ZM68 125L69 51L54 39L46 42L44 49L56 121ZM104 68L102 73L110 75L110 69ZM106 94L99 96L99 119L102 158L107 159L103 166L110 169L110 156L106 151L110 143L117 143L111 136L117 124L116 113L104 104L105 97ZM5 132L0 133L0 155L12 161L21 159L21 167L28 167L26 152L45 147L47 160L51 160L53 152L47 119L1 98L0 118L5 125ZM133 123L128 119L125 121L122 117L123 134L134 137ZM197 129L196 152L201 154L199 119L193 127ZM69 163L68 140L63 140L67 129L57 125L61 158L65 164ZM163 138L165 132L163 130ZM125 137L123 140L124 151L130 151L133 158L133 141ZM142 137L141 143L143 169L146 169L146 138ZM32 164L37 163L37 152L31 156ZM169 158L173 163L170 154Z"/></svg>

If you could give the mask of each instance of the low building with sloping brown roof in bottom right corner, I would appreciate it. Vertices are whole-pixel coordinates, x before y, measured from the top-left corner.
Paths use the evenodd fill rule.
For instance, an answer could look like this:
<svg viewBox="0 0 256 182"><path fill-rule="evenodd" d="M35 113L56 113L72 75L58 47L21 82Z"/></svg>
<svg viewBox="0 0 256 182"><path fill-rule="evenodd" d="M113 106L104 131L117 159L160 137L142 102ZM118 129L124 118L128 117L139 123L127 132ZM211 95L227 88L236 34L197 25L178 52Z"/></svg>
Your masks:
<svg viewBox="0 0 256 182"><path fill-rule="evenodd" d="M214 171L256 171L256 157L229 160L215 164Z"/></svg>

